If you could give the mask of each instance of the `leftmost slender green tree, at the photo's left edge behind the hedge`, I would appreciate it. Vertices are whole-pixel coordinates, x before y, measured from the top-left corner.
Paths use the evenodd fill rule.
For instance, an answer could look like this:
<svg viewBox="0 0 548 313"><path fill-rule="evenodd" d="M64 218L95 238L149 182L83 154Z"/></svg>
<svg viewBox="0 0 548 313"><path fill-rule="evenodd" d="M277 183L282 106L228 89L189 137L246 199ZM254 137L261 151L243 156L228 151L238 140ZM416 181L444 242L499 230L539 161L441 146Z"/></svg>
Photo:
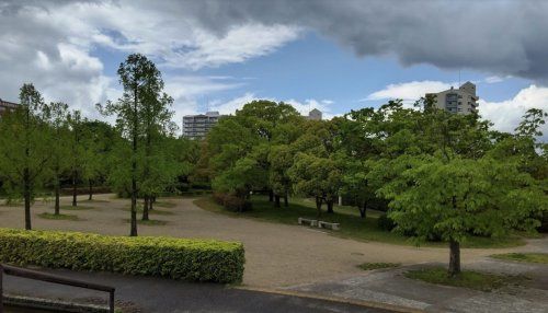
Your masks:
<svg viewBox="0 0 548 313"><path fill-rule="evenodd" d="M12 196L24 199L25 229L31 230L31 206L50 158L49 109L33 84L23 84L20 103L0 121L0 172Z"/></svg>

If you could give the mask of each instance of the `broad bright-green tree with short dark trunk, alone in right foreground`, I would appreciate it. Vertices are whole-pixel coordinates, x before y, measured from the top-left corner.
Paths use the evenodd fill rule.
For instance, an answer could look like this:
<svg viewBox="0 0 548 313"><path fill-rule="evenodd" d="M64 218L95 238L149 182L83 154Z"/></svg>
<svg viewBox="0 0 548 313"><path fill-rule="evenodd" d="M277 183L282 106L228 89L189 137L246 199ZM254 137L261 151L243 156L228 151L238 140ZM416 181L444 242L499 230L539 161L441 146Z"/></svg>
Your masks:
<svg viewBox="0 0 548 313"><path fill-rule="evenodd" d="M412 230L424 241L433 232L449 243L450 276L460 273L460 244L472 234L509 234L513 229L533 231L530 218L548 209L545 190L515 162L491 158L446 160L402 155L392 165L400 175L379 193L390 199L389 217L396 231Z"/></svg>

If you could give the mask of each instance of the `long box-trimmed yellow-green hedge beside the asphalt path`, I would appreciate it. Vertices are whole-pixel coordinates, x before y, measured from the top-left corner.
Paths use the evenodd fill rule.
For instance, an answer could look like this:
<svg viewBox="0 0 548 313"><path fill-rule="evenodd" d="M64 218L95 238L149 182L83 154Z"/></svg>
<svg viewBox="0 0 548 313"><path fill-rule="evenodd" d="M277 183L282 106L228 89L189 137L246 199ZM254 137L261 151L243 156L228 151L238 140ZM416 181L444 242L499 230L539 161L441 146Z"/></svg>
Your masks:
<svg viewBox="0 0 548 313"><path fill-rule="evenodd" d="M0 262L49 268L241 282L238 242L0 229Z"/></svg>

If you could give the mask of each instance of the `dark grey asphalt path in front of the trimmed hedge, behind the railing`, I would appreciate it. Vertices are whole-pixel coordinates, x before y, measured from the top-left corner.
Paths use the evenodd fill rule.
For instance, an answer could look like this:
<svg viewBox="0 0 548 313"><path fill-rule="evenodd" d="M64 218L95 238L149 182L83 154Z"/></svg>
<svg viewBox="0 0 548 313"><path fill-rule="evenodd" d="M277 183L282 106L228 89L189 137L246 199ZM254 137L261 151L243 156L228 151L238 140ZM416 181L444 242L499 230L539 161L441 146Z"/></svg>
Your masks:
<svg viewBox="0 0 548 313"><path fill-rule="evenodd" d="M116 303L125 312L390 312L294 295L190 283L152 277L133 277L70 270L44 270L64 277L116 288ZM4 292L78 303L105 303L102 292L16 277L4 277Z"/></svg>

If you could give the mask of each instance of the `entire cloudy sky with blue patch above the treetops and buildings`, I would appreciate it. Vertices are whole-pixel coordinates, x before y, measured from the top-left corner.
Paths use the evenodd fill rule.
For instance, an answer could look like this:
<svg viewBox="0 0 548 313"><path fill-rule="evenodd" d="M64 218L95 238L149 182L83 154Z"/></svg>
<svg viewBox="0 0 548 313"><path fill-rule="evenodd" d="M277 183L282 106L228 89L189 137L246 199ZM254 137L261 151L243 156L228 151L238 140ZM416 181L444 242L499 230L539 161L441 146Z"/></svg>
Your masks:
<svg viewBox="0 0 548 313"><path fill-rule="evenodd" d="M326 115L472 81L512 130L548 111L548 1L0 0L0 97L33 82L99 117L128 54L150 57L176 118L253 98Z"/></svg>

